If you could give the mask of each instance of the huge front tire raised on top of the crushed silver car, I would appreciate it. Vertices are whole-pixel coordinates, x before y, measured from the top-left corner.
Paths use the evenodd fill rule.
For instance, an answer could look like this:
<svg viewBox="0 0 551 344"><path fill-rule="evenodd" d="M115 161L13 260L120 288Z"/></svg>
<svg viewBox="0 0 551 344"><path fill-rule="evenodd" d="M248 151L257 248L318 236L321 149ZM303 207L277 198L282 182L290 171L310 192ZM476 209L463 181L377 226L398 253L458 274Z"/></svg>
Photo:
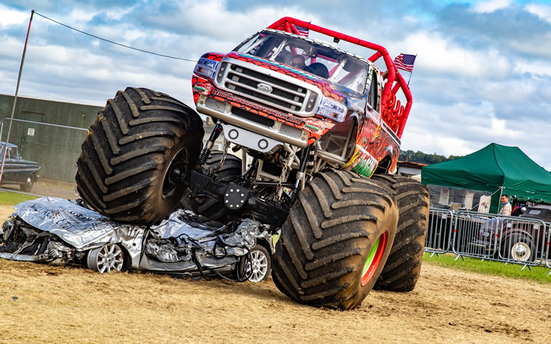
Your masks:
<svg viewBox="0 0 551 344"><path fill-rule="evenodd" d="M203 133L198 114L178 100L150 89L119 91L82 144L79 194L116 221L156 224L182 198L177 172L195 166Z"/></svg>

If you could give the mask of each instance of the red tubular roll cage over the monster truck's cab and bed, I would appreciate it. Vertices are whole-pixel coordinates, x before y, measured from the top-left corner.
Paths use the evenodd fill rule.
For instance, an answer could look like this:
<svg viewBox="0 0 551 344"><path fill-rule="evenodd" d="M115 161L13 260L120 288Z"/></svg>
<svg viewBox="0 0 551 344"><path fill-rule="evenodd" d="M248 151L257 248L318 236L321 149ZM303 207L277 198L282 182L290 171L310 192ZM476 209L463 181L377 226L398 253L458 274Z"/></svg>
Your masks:
<svg viewBox="0 0 551 344"><path fill-rule="evenodd" d="M380 57L383 58L386 65L386 72L388 72L388 74L386 76L386 83L384 84L381 97L381 118L384 120L384 122L386 122L386 125L388 125L388 127L391 127L391 129L395 131L398 138L402 138L402 132L404 131L404 127L406 126L412 104L411 92L406 83L406 80L404 80L402 74L398 72L398 69L394 65L394 61L388 54L386 48L382 47L381 45L364 41L362 39L357 39L353 36L322 28L321 26L291 17L284 17L276 21L275 23L269 25L268 29L280 30L293 34L300 34L295 25L315 32L320 32L320 34L331 36L334 39L339 39L342 41L360 45L362 47L366 47L371 50L375 50L375 54L368 58L368 60L371 62L377 61ZM401 105L400 101L396 98L396 93L398 92L398 89L402 89L404 96L406 96L407 103L405 107Z"/></svg>

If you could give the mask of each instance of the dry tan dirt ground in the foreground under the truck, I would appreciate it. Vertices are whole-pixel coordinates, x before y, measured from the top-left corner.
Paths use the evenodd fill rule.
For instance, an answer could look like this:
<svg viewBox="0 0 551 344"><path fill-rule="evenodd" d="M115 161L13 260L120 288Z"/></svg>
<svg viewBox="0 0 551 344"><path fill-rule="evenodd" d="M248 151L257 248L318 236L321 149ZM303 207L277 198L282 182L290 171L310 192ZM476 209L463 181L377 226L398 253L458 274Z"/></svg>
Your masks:
<svg viewBox="0 0 551 344"><path fill-rule="evenodd" d="M9 213L0 208L2 219ZM348 312L299 305L271 279L100 275L0 259L0 281L0 343L551 343L551 283L427 263L413 292L373 291Z"/></svg>

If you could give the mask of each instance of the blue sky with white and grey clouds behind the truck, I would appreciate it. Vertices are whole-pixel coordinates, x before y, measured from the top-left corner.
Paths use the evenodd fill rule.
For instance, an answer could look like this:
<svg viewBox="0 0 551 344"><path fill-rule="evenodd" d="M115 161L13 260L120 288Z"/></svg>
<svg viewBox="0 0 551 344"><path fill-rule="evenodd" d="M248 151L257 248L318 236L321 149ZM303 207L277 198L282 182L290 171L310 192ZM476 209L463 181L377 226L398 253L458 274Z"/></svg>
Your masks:
<svg viewBox="0 0 551 344"><path fill-rule="evenodd" d="M0 94L15 92L31 10L110 41L194 61L204 52L229 52L289 16L383 45L391 56L417 54L402 149L465 155L496 142L520 147L551 170L549 0L274 3L0 0ZM193 67L35 14L19 95L103 106L118 89L138 86L191 105Z"/></svg>

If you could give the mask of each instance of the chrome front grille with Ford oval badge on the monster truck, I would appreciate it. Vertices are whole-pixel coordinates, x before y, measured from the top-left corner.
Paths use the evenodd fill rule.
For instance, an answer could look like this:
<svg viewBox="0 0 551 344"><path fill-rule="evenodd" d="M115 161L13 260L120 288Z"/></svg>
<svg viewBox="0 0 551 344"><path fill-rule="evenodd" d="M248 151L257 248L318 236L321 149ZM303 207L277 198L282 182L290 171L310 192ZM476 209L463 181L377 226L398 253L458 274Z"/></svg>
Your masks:
<svg viewBox="0 0 551 344"><path fill-rule="evenodd" d="M225 69L227 69L227 74L220 84L225 89L230 89L232 93L247 96L247 98L259 100L261 103L287 111L305 113L313 110L306 110L304 107L311 92L301 85L295 85L241 65L227 63ZM259 84L264 84L261 85L261 87L264 86L264 89L260 89Z"/></svg>

